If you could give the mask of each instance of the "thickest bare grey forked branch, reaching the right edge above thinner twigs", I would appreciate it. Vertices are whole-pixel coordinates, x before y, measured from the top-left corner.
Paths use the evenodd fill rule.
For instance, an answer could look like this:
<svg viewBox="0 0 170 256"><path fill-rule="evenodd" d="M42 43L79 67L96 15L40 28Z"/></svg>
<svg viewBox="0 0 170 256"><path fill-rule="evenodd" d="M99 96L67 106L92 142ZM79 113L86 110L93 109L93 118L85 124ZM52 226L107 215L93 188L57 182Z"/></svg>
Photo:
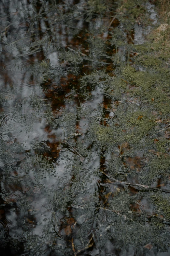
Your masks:
<svg viewBox="0 0 170 256"><path fill-rule="evenodd" d="M167 189L153 188L153 187L150 187L150 186L147 186L147 185L138 184L138 183L130 183L130 182L126 182L126 181L120 181L120 180L118 180L118 179L115 179L115 178L111 177L111 176L108 175L108 174L105 174L105 175L106 175L109 179L112 179L112 180L114 180L114 181L113 181L113 182L104 182L104 183L100 183L101 186L112 185L112 184L114 184L114 183L120 183L120 184L123 184L123 185L136 186L136 187L144 188L144 189L147 189L147 190L154 190L154 191L160 191L160 192L170 193L170 190L167 190Z"/></svg>

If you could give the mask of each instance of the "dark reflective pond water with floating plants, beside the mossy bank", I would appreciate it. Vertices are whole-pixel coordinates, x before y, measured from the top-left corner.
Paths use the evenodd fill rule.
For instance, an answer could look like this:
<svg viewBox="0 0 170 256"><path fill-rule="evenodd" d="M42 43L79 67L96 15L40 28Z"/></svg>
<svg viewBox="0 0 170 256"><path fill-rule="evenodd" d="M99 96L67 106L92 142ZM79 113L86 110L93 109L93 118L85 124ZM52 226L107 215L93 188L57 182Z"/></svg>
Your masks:
<svg viewBox="0 0 170 256"><path fill-rule="evenodd" d="M121 1L0 1L1 255L169 255L169 210L152 199L163 194L168 202L159 192L168 181L141 178L152 148L142 144L146 134L131 143L115 130L128 129L123 113L149 105L133 88L108 88L133 65L133 47L158 16L147 3L151 23L140 26L122 8ZM154 123L152 141L164 126ZM109 175L158 191L100 185L113 182Z"/></svg>

